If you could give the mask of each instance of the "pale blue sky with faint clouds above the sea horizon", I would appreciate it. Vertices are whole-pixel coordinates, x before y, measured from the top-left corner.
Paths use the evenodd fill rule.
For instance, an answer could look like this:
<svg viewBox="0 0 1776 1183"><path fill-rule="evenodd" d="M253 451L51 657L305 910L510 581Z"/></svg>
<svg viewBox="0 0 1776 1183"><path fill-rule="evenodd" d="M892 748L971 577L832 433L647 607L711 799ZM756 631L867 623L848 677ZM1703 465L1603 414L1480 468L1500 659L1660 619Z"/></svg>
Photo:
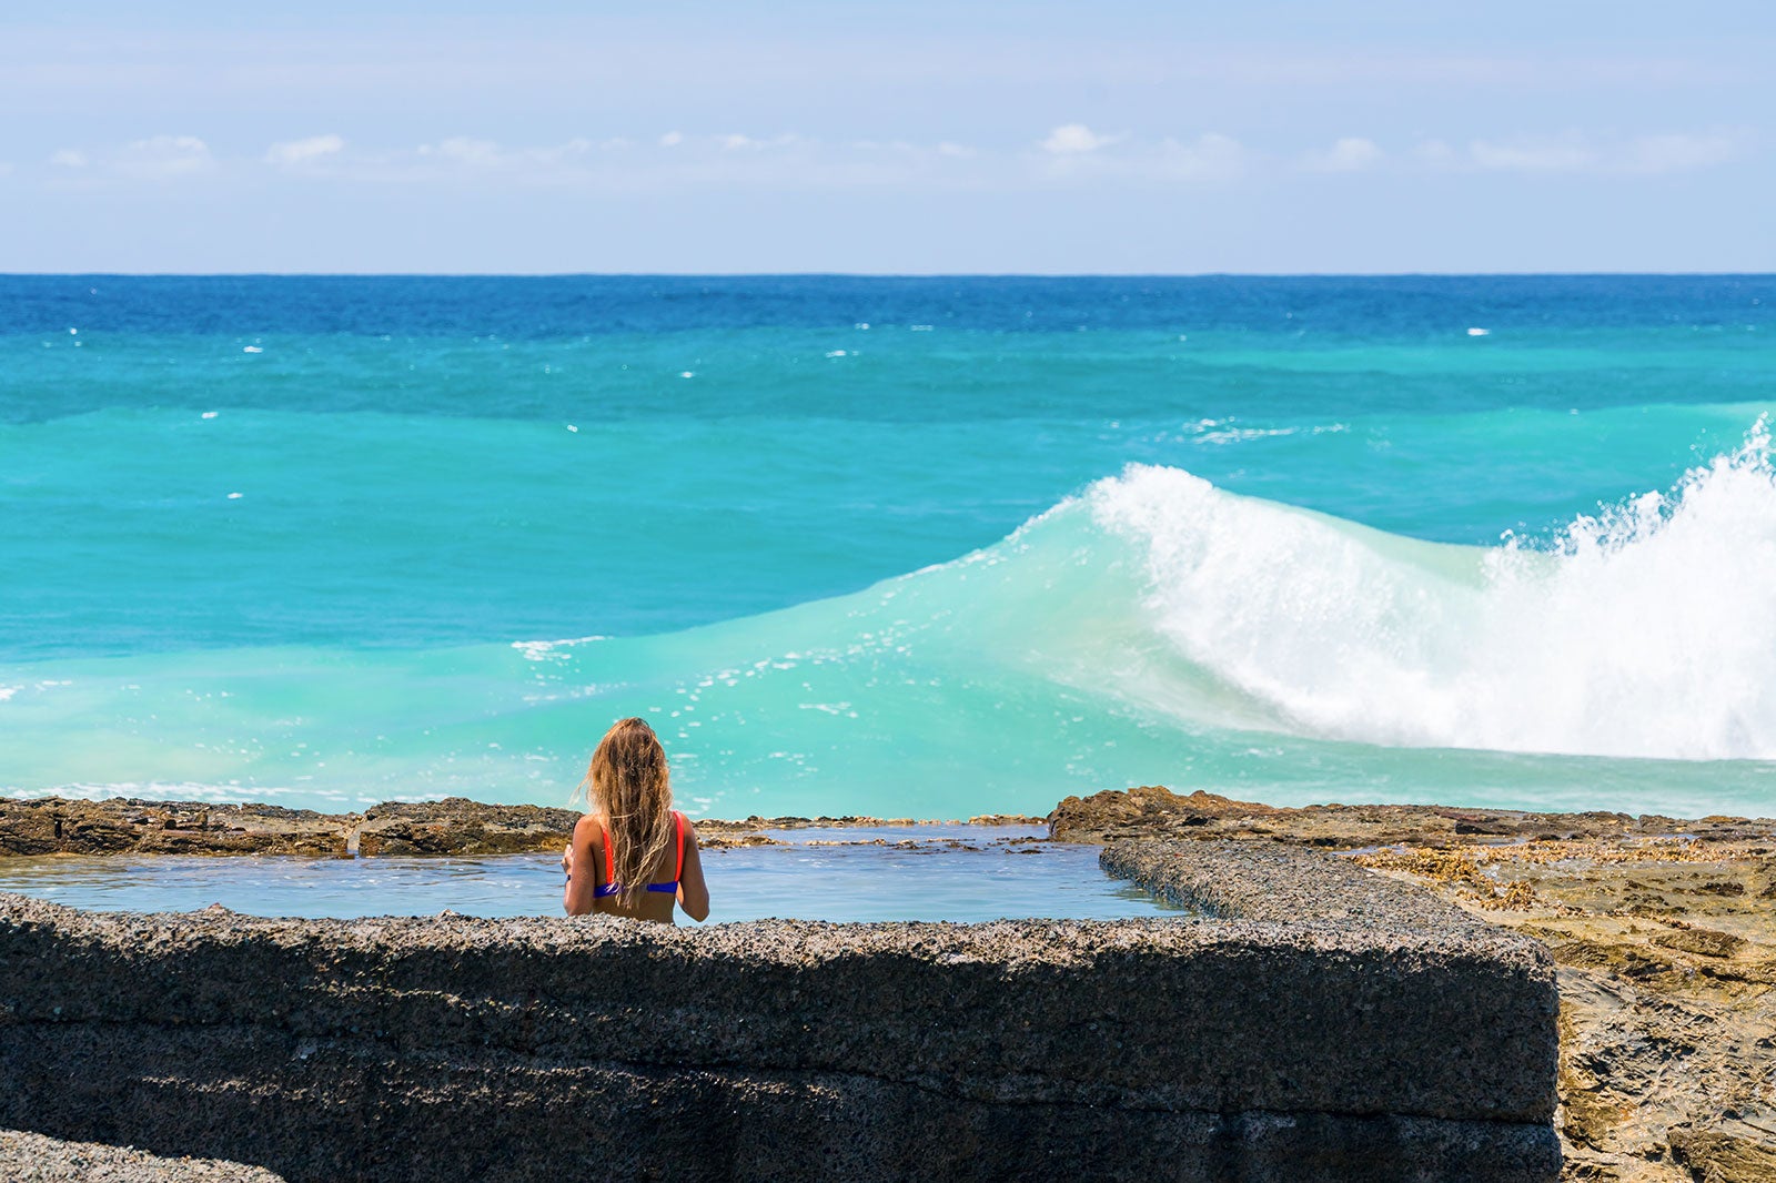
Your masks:
<svg viewBox="0 0 1776 1183"><path fill-rule="evenodd" d="M1776 270L1776 5L0 14L0 272Z"/></svg>

